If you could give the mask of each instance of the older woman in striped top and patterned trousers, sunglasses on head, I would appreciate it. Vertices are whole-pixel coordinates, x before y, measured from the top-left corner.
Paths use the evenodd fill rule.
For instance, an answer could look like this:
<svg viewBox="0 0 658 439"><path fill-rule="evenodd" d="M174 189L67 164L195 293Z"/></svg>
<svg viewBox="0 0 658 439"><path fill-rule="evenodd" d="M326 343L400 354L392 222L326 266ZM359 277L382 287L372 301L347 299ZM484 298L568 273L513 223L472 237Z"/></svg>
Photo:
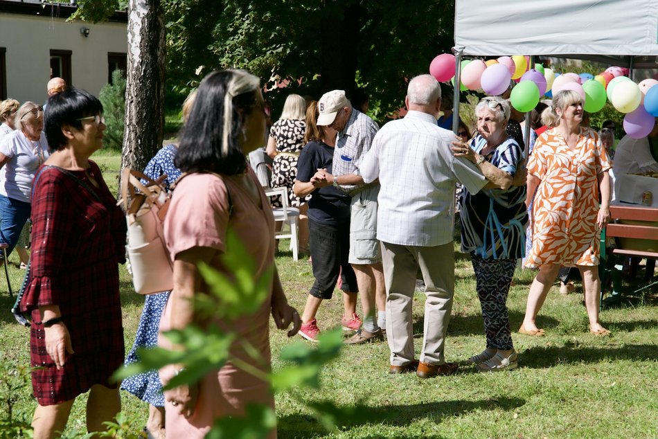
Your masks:
<svg viewBox="0 0 658 439"><path fill-rule="evenodd" d="M483 98L475 107L477 131L470 143L454 142L455 156L473 161L489 183L477 194L461 194L461 247L470 253L482 307L486 349L464 364L480 372L517 367L510 334L507 296L516 261L523 256L526 213L522 148L506 133L510 105L502 98ZM516 181L514 177L517 177Z"/></svg>

